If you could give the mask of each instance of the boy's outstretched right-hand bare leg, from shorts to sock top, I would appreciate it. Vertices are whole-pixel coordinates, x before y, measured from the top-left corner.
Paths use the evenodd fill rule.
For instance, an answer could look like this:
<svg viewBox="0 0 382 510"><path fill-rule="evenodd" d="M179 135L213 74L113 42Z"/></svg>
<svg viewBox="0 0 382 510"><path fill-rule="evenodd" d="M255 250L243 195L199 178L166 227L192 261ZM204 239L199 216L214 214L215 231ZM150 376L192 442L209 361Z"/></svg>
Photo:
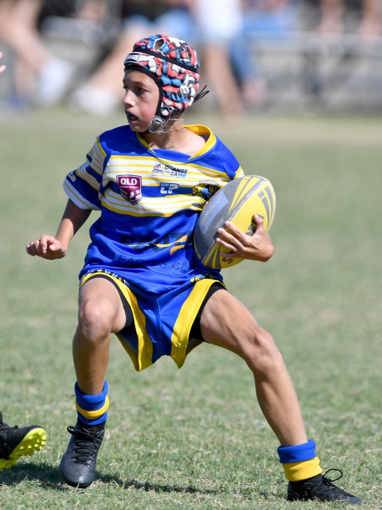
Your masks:
<svg viewBox="0 0 382 510"><path fill-rule="evenodd" d="M201 316L204 339L235 352L255 377L261 410L282 446L306 443L307 436L292 381L274 340L232 294L216 291Z"/></svg>

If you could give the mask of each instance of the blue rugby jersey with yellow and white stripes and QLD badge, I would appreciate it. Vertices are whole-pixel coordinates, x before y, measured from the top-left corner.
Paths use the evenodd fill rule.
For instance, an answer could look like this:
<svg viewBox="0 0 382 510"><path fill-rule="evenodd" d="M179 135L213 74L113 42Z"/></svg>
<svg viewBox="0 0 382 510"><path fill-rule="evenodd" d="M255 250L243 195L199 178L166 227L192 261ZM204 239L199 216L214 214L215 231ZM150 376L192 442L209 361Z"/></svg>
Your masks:
<svg viewBox="0 0 382 510"><path fill-rule="evenodd" d="M206 140L194 156L152 150L123 125L100 135L86 162L67 175L68 197L101 211L80 275L102 267L131 283L145 277L156 293L206 272L193 250L195 223L209 196L243 172L208 127L186 127ZM219 271L208 272L220 279Z"/></svg>

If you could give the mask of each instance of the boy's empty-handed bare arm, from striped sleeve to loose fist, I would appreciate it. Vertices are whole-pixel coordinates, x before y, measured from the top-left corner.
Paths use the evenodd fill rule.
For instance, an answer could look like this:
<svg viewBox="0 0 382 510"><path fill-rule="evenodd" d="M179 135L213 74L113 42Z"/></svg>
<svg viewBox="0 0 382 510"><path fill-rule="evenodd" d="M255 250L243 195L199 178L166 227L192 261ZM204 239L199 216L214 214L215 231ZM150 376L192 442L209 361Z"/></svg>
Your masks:
<svg viewBox="0 0 382 510"><path fill-rule="evenodd" d="M68 250L70 240L85 223L90 209L80 209L70 199L67 202L56 236L43 234L40 239L26 245L26 252L46 260L62 259Z"/></svg>

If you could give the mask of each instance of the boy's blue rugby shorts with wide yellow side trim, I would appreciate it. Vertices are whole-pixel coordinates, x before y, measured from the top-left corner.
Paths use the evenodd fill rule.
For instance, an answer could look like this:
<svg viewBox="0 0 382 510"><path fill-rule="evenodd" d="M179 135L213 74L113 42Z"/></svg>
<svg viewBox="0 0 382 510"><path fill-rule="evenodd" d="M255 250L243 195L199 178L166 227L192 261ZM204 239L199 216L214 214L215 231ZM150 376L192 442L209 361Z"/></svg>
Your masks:
<svg viewBox="0 0 382 510"><path fill-rule="evenodd" d="M204 341L200 316L205 303L213 292L225 289L222 282L203 278L197 282L187 281L160 296L139 295L132 292L124 278L104 269L85 274L80 287L90 278L100 277L109 279L121 297L126 325L116 336L137 371L164 355L171 356L181 368L185 356Z"/></svg>

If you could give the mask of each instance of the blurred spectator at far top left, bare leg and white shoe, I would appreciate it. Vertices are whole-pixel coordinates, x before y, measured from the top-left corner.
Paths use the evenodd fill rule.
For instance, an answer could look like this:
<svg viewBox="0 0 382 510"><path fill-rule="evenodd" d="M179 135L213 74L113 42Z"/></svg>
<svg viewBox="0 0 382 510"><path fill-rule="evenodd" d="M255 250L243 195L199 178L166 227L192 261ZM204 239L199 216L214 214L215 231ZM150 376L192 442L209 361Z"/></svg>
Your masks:
<svg viewBox="0 0 382 510"><path fill-rule="evenodd" d="M76 7L78 10L76 10ZM12 91L8 98L14 106L31 101L38 105L56 104L73 78L70 61L54 56L40 35L46 16L78 16L98 22L104 15L101 0L2 0L0 2L0 40L12 52Z"/></svg>

